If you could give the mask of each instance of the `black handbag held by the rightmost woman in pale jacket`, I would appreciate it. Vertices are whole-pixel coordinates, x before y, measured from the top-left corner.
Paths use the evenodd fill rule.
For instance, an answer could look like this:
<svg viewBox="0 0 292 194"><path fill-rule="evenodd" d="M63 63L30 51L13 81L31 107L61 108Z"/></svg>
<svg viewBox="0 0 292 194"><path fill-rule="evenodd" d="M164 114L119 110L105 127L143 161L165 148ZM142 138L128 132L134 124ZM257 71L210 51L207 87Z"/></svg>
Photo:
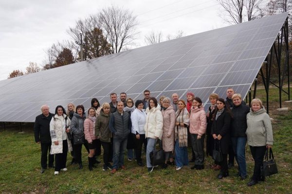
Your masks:
<svg viewBox="0 0 292 194"><path fill-rule="evenodd" d="M272 148L270 148L270 154L268 159L269 149L266 151L264 162L261 166L261 176L271 176L278 173L276 161L274 160L274 155Z"/></svg>

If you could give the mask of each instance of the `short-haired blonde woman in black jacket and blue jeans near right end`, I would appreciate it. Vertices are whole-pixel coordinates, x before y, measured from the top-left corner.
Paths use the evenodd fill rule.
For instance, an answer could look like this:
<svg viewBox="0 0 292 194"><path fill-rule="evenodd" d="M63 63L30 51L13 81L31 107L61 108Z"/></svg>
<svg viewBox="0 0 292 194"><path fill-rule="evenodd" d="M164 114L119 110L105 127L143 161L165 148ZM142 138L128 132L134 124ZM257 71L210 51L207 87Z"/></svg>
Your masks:
<svg viewBox="0 0 292 194"><path fill-rule="evenodd" d="M250 112L250 108L241 103L241 95L233 94L232 108L233 120L231 122L231 142L235 159L238 164L238 176L241 180L246 179L246 162L245 162L245 143L246 143L246 115Z"/></svg>

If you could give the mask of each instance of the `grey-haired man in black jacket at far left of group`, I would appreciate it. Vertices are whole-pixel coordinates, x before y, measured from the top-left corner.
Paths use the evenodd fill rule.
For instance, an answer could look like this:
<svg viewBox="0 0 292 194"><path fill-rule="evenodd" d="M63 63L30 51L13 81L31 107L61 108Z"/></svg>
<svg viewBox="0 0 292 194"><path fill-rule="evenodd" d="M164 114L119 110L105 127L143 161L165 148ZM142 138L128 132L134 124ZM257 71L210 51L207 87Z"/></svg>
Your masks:
<svg viewBox="0 0 292 194"><path fill-rule="evenodd" d="M42 114L36 117L34 131L35 131L35 141L37 144L40 144L41 149L41 158L40 165L41 170L40 173L44 173L45 169L47 169L47 159L49 157L49 168L54 168L54 155L50 154L51 151L51 135L50 135L50 122L54 114L50 113L50 109L48 105L43 105L40 107ZM48 155L49 151L49 155Z"/></svg>

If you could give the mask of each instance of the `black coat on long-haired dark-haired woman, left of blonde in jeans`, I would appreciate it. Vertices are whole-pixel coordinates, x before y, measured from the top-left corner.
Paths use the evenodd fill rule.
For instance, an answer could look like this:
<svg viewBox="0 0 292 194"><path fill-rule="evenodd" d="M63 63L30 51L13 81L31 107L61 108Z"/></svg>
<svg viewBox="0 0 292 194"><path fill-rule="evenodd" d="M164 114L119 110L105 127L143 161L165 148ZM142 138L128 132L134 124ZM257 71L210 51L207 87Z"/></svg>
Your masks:
<svg viewBox="0 0 292 194"><path fill-rule="evenodd" d="M216 116L216 115L215 115ZM230 124L231 115L224 110L222 114L212 123L211 134L221 135L220 148L222 154L228 154L228 146L230 141Z"/></svg>

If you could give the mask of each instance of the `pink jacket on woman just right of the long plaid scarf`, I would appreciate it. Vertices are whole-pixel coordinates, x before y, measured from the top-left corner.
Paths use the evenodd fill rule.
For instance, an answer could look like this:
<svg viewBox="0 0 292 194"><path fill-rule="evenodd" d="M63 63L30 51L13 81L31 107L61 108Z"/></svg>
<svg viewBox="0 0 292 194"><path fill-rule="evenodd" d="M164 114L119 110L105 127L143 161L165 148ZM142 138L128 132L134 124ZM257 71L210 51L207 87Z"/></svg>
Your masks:
<svg viewBox="0 0 292 194"><path fill-rule="evenodd" d="M203 135L206 133L207 120L204 108L191 108L190 133Z"/></svg>

